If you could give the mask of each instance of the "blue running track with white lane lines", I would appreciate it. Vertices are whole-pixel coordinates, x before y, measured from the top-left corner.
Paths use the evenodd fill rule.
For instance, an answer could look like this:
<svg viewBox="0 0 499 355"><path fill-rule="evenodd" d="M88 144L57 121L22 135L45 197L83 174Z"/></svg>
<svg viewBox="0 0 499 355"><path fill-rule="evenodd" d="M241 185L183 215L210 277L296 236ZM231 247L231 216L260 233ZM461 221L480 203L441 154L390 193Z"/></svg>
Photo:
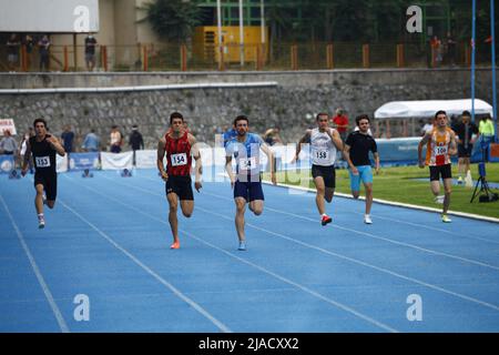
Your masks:
<svg viewBox="0 0 499 355"><path fill-rule="evenodd" d="M335 197L322 226L313 193L265 185L240 252L231 186L205 182L171 251L155 171L60 174L44 230L32 178L0 180L0 332L499 332L495 223L375 203L365 225Z"/></svg>

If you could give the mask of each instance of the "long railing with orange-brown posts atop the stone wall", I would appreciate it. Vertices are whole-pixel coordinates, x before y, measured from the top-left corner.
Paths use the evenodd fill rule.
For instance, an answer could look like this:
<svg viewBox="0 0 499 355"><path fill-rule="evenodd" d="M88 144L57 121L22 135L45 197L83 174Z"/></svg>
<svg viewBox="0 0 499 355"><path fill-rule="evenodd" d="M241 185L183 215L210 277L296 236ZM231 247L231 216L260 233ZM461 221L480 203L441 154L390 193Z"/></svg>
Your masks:
<svg viewBox="0 0 499 355"><path fill-rule="evenodd" d="M19 47L18 60L7 61L7 45L0 45L0 71L40 71L40 54ZM324 70L355 68L469 67L471 50L458 43L452 53L417 43L258 43L241 47L215 44L98 45L94 71L223 71L223 70ZM441 58L441 61L439 60ZM477 64L490 64L490 48L477 49ZM52 45L48 71L89 71L83 45Z"/></svg>

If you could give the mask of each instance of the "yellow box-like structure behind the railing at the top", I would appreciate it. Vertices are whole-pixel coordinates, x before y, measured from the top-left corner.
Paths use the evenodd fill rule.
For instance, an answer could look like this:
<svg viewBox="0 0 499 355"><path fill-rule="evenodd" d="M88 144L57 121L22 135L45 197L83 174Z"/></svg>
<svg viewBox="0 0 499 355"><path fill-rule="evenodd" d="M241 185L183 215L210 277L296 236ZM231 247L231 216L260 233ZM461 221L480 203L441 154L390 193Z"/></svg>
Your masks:
<svg viewBox="0 0 499 355"><path fill-rule="evenodd" d="M222 51L224 62L241 62L240 27L222 27ZM193 37L194 55L208 62L220 62L218 28L216 26L197 27ZM258 26L244 27L244 61L263 61L268 55L268 29L265 28L265 43L262 45L262 29Z"/></svg>

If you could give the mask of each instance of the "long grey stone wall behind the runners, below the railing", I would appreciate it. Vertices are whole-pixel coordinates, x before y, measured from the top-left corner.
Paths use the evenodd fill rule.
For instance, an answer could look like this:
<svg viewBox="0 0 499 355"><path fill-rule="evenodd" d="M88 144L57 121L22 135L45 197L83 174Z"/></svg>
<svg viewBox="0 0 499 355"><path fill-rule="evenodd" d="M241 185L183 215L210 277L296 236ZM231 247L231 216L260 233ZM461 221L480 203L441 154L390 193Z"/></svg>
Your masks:
<svg viewBox="0 0 499 355"><path fill-rule="evenodd" d="M470 97L468 70L336 70L309 72L205 72L130 74L0 74L2 89L112 87L197 82L276 81L276 88L190 89L113 93L0 94L0 118L13 118L19 131L45 116L53 132L71 124L79 135L90 128L108 140L110 126L130 132L140 125L154 149L172 111L182 112L200 141L214 141L216 129L240 113L258 132L281 126L284 141L296 141L319 111L343 106L350 122L373 115L388 101L447 100ZM477 98L491 103L490 71L477 72Z"/></svg>

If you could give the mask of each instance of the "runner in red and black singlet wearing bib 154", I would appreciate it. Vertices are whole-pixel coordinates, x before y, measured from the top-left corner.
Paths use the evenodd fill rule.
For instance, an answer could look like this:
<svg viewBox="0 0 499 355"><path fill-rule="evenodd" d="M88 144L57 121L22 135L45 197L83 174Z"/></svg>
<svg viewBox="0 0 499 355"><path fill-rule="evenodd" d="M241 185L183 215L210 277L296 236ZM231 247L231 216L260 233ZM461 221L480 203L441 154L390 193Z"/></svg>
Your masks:
<svg viewBox="0 0 499 355"><path fill-rule="evenodd" d="M179 220L176 210L180 205L184 216L190 217L194 210L194 195L192 192L191 165L192 158L196 161L194 186L200 192L201 185L201 155L196 139L184 126L184 118L179 112L170 115L170 130L157 143L157 169L161 178L166 182L166 200L170 204L169 222L173 234L171 248L180 248ZM166 170L163 159L166 153Z"/></svg>

